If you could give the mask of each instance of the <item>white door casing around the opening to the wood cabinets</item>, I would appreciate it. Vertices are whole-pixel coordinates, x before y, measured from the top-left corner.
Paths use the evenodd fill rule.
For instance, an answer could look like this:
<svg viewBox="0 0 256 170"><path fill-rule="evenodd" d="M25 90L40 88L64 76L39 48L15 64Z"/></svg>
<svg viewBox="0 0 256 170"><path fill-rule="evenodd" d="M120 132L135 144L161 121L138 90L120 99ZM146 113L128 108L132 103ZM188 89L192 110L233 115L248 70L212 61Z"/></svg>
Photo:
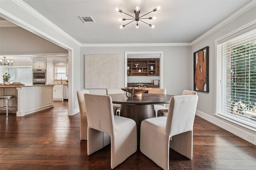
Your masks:
<svg viewBox="0 0 256 170"><path fill-rule="evenodd" d="M125 51L124 52L124 87L127 87L127 55L128 54L160 54L160 88L163 88L163 51Z"/></svg>

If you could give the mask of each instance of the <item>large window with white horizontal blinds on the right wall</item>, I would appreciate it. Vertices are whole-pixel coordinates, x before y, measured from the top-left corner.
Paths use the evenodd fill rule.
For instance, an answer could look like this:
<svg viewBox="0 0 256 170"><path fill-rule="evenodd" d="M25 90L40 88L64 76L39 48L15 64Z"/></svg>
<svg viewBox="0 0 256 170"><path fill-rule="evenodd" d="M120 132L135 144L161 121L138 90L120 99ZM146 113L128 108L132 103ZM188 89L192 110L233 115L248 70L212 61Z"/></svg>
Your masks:
<svg viewBox="0 0 256 170"><path fill-rule="evenodd" d="M216 114L256 128L256 29L218 42Z"/></svg>

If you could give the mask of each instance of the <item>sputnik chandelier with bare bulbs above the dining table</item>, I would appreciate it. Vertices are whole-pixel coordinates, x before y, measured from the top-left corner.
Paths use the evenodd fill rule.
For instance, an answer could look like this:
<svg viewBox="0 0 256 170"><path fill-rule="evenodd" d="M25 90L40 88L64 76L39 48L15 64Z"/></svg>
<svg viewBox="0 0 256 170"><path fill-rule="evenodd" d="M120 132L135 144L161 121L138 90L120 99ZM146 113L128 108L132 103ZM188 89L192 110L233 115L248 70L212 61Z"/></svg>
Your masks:
<svg viewBox="0 0 256 170"><path fill-rule="evenodd" d="M158 11L158 10L160 10L160 9L161 9L161 6L158 5L154 10L148 12L147 14L145 14L145 15L143 15L143 16L146 16L146 15L148 15L149 13ZM120 10L120 9L118 8L118 6L115 7L115 10L116 10L116 12L121 12L121 13L126 14L125 12L123 12L122 10ZM119 18L118 21L121 22L121 21L126 21L126 20L132 20L132 21L129 22L128 24L130 24L130 23L136 21L137 23L136 23L136 25L135 25L135 28L138 29L138 28L140 28L140 26L139 26L139 24L138 24L139 21L144 22L144 21L142 21L142 20L144 20L144 19L156 20L156 16L147 17L147 18L142 18L143 16L140 16L140 6L138 6L138 5L135 6L134 14L135 14L135 17L134 17L134 16L131 16L131 15L129 15L129 14L126 14L126 15L128 15L128 16L131 16L132 18ZM144 22L144 23L145 23L145 24L148 24L148 23L146 23L146 22ZM128 25L128 24L120 25L119 28L122 30L122 29L123 29L126 25ZM148 26L150 26L152 29L155 28L155 25L154 25L154 24L148 24Z"/></svg>

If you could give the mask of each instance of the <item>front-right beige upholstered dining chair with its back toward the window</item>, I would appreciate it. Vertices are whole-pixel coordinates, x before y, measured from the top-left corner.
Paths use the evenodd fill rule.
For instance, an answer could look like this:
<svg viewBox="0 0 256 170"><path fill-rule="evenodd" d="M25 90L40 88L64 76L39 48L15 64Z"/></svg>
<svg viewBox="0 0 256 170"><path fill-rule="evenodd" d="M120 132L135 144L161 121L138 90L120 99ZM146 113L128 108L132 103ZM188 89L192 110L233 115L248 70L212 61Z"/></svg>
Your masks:
<svg viewBox="0 0 256 170"><path fill-rule="evenodd" d="M167 117L145 119L141 123L140 151L164 170L169 169L169 147L192 159L197 101L198 95L174 96Z"/></svg>

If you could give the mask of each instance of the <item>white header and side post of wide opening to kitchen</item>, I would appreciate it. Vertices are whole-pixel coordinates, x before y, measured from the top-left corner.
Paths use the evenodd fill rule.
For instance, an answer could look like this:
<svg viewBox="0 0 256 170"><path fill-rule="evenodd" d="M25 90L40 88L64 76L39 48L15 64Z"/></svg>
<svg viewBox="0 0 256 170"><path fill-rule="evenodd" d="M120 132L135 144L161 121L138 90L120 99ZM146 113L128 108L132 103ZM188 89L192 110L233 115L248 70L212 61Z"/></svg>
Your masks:
<svg viewBox="0 0 256 170"><path fill-rule="evenodd" d="M68 92L68 114L78 113L76 91L80 90L80 43L53 26L25 2L1 1L0 14L2 18L69 50L69 88L72 90Z"/></svg>

